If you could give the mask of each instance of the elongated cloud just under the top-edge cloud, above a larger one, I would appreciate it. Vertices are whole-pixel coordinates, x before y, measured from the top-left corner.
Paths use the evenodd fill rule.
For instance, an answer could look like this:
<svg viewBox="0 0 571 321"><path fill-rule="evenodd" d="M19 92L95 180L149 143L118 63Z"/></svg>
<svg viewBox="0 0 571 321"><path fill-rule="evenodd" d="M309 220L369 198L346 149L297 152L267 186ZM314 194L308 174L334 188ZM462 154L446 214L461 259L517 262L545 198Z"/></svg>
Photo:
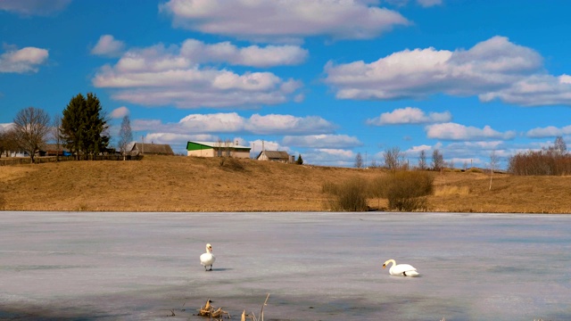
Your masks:
<svg viewBox="0 0 571 321"><path fill-rule="evenodd" d="M273 67L297 65L305 62L309 53L298 45L250 45L239 48L231 43L213 45L187 39L180 48L180 55L191 62L226 62L231 65Z"/></svg>

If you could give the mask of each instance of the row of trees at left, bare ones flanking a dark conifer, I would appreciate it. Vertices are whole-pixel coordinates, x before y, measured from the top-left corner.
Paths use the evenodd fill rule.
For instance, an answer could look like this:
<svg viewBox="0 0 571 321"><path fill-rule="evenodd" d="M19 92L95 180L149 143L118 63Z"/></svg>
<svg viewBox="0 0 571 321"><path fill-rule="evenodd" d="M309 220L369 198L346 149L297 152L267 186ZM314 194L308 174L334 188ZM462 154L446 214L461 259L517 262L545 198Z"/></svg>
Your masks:
<svg viewBox="0 0 571 321"><path fill-rule="evenodd" d="M132 141L128 116L123 119L120 136L120 150L125 153ZM99 98L93 93L78 94L70 99L62 115L54 119L35 107L18 111L12 127L0 131L0 157L6 151L21 151L28 153L34 162L36 153L47 141L53 141L58 156L65 147L76 160L89 160L95 155L114 152L109 148L110 140L109 119Z"/></svg>

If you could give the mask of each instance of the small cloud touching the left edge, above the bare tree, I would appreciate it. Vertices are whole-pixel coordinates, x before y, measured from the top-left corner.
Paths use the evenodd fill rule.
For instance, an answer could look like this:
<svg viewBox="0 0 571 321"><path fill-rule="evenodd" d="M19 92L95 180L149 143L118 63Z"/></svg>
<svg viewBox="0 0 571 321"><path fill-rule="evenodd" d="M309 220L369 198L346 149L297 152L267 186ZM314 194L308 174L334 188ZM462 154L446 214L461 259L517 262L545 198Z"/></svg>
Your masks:
<svg viewBox="0 0 571 321"><path fill-rule="evenodd" d="M0 72L37 72L37 67L47 61L49 53L46 49L25 47L21 49L8 48L0 54Z"/></svg>

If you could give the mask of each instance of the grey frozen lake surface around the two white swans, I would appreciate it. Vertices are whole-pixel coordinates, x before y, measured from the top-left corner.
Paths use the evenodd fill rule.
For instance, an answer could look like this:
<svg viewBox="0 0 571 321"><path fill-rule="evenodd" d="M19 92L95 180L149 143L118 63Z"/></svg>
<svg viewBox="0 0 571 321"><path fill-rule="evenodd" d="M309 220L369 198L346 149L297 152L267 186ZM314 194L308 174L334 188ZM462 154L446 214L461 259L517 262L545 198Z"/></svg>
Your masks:
<svg viewBox="0 0 571 321"><path fill-rule="evenodd" d="M564 215L0 212L0 319L571 320L570 266Z"/></svg>

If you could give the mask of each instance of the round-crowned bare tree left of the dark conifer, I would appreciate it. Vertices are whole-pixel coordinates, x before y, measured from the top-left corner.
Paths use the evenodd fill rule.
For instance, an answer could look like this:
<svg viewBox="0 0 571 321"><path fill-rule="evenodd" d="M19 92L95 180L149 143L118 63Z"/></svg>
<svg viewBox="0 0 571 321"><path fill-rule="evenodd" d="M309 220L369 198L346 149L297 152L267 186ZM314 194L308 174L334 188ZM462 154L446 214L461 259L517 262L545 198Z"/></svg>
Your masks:
<svg viewBox="0 0 571 321"><path fill-rule="evenodd" d="M18 146L29 153L33 163L36 152L45 144L46 136L50 132L50 116L46 111L34 107L18 111L14 118L14 131Z"/></svg>

